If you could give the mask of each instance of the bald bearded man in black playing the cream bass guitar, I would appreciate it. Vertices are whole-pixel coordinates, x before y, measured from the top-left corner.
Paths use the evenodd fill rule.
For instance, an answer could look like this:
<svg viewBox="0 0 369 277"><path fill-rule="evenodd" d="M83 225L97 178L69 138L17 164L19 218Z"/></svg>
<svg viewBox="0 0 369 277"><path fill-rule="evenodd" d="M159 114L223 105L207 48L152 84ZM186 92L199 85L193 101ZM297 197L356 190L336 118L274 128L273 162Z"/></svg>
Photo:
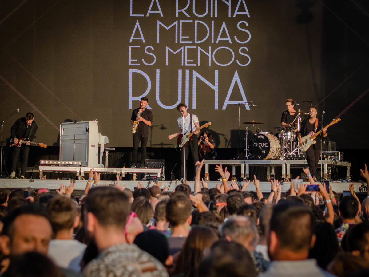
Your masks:
<svg viewBox="0 0 369 277"><path fill-rule="evenodd" d="M310 132L316 133L320 130L320 120L317 118L317 114L318 111L316 108L310 108L309 117L301 122L301 128L299 131L299 143L301 143L301 137L308 135ZM326 136L327 129L323 128L323 137L325 138ZM306 150L307 164L309 166L310 173L315 181L317 180L317 167L321 150L320 137L321 136L317 136L315 138L315 141L317 143L311 145Z"/></svg>

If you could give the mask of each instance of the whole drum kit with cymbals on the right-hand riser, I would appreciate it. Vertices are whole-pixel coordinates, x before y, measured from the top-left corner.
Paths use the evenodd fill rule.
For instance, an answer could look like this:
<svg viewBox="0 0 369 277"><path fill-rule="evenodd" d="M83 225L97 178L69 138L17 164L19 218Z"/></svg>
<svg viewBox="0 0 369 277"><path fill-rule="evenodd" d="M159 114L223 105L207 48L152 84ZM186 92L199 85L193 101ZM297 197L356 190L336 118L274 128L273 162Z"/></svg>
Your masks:
<svg viewBox="0 0 369 277"><path fill-rule="evenodd" d="M297 116L291 123L291 127L275 127L277 133L263 132L258 125L264 122L246 121L242 124L248 124L246 127L246 148L245 158L255 160L286 160L286 159L305 159L305 152L299 149L298 131L302 117L307 112L297 111ZM251 132L249 128L254 128Z"/></svg>

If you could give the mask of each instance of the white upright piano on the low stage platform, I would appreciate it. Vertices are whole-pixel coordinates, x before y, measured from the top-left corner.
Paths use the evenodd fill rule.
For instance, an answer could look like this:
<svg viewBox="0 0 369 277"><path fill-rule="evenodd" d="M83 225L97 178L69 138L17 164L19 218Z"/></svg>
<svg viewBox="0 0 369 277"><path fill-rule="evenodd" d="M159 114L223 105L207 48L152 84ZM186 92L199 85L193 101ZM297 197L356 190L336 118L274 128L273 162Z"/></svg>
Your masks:
<svg viewBox="0 0 369 277"><path fill-rule="evenodd" d="M63 122L60 124L59 160L104 167L104 145L108 142L108 137L99 133L97 121Z"/></svg>

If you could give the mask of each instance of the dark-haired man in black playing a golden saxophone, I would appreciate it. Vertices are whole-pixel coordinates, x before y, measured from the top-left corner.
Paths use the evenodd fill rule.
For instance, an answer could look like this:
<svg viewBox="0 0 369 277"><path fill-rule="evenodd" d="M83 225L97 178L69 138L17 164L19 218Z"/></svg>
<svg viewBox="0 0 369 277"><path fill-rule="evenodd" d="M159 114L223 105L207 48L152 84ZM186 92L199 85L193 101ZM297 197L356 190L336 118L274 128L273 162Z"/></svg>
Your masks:
<svg viewBox="0 0 369 277"><path fill-rule="evenodd" d="M142 97L140 107L132 111L132 166L137 166L138 143L141 142L141 167L143 167L146 157L146 144L149 138L149 127L152 124L152 112L146 109L147 97Z"/></svg>

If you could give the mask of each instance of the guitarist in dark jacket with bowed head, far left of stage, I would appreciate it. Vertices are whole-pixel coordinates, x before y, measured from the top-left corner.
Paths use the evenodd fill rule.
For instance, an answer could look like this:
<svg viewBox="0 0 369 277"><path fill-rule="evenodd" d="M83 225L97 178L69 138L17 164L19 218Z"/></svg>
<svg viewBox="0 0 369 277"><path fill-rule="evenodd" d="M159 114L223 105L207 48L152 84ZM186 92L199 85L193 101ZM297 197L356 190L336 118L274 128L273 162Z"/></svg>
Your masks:
<svg viewBox="0 0 369 277"><path fill-rule="evenodd" d="M19 111L19 110L17 110ZM10 177L15 177L15 170L19 155L22 152L21 174L20 177L24 178L25 170L28 163L28 153L30 152L30 142L35 138L37 131L37 124L34 121L32 112L27 112L25 117L18 118L10 129L10 141L18 142L18 139L27 138L27 142L21 145L21 147L12 147L12 159L10 168Z"/></svg>

